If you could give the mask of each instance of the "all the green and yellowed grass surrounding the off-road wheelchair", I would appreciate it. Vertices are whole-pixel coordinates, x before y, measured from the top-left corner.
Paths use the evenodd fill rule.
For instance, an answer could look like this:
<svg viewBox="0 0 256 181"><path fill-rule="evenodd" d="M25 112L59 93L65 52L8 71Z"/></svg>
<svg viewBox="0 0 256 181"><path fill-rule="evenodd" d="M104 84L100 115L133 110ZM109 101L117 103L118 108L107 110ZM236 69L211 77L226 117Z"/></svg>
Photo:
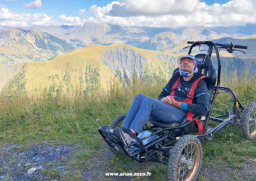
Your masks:
<svg viewBox="0 0 256 181"><path fill-rule="evenodd" d="M222 82L222 85L236 92L243 105L256 101L256 74L249 76L244 73L241 77L233 75L223 78ZM113 83L109 92L99 91L86 96L76 92L68 96L42 94L36 98L1 98L0 143L19 143L21 147L31 141L79 143L82 150L70 156L72 159L66 160L70 173L60 173L54 166L48 165L44 173L51 178L83 180L83 171L104 166L106 172L152 173L150 178L135 177L134 180L165 180L167 173L163 164L140 164L125 156L113 156L108 159L108 163L95 160L97 156L104 154L106 147L97 129L104 124L110 124L118 115L126 113L136 94L142 93L157 98L165 83L166 80L133 80L127 87ZM228 95L218 98L213 113L225 113L226 107L230 106L228 99ZM214 123L210 124L214 126ZM247 157L256 157L255 146L256 140L242 138L241 127L228 125L216 133L213 141L203 143L203 166L214 160L221 165L243 169L242 163ZM234 179L240 177L234 175ZM8 177L5 179L8 180ZM207 178L200 177L200 180Z"/></svg>

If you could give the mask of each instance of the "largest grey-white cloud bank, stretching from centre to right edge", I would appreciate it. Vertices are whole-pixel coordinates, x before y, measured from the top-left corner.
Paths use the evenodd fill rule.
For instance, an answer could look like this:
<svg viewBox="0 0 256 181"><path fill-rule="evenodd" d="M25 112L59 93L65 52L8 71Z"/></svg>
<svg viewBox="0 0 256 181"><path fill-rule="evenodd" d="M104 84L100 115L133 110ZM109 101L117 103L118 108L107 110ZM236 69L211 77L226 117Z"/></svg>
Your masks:
<svg viewBox="0 0 256 181"><path fill-rule="evenodd" d="M93 22L154 27L229 26L256 23L256 1L207 5L199 0L124 0L91 6Z"/></svg>

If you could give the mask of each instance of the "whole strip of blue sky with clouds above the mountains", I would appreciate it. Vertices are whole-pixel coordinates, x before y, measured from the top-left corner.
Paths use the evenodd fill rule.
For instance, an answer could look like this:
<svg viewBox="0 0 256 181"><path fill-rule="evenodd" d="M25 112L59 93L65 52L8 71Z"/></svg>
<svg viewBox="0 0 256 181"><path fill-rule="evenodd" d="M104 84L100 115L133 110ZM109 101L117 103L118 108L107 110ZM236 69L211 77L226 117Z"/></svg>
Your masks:
<svg viewBox="0 0 256 181"><path fill-rule="evenodd" d="M83 25L152 27L256 23L255 0L0 0L0 26Z"/></svg>

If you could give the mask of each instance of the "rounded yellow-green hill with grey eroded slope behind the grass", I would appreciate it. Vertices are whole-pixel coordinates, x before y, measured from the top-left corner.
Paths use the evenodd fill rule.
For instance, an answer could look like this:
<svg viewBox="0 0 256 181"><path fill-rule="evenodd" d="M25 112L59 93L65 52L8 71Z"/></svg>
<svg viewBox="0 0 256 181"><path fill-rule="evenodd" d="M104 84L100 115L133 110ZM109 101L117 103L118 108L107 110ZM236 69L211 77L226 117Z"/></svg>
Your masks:
<svg viewBox="0 0 256 181"><path fill-rule="evenodd" d="M177 57L163 52L128 45L88 45L46 62L27 62L2 93L14 96L20 87L30 95L108 90L111 80L127 82L133 75L168 78L176 66Z"/></svg>

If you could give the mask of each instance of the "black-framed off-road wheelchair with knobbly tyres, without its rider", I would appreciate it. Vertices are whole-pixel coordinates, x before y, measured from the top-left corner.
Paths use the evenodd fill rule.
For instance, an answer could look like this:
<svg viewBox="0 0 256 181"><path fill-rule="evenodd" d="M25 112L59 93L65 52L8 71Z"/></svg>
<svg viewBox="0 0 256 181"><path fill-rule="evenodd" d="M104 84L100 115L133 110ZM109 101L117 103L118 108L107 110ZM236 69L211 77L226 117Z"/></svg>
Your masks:
<svg viewBox="0 0 256 181"><path fill-rule="evenodd" d="M202 164L203 140L212 140L214 134L227 124L242 126L242 133L245 138L256 137L256 102L250 103L244 108L239 103L237 96L232 89L220 86L221 60L220 50L225 48L232 53L236 49L245 46L230 44L217 44L212 41L188 41L189 52L201 45L207 46L207 54L195 55L198 62L198 72L204 78L210 94L209 110L205 115L193 115L193 120L188 121L187 117L180 121L161 122L161 120L150 120L143 131L138 134L137 140L132 140L130 145L122 146L116 136L102 127L99 133L108 143L109 147L116 154L126 154L138 162L154 161L168 165L168 180L195 180ZM187 47L188 48L188 47ZM220 49L218 49L220 48ZM218 69L212 64L212 52L215 52L218 61ZM242 52L241 50L237 50ZM245 54L245 53L244 53ZM175 70L177 71L177 69ZM232 108L223 115L212 116L212 108L218 94L228 93L232 96ZM110 127L122 126L125 115L120 115L111 122ZM219 122L217 126L209 129L209 120Z"/></svg>

